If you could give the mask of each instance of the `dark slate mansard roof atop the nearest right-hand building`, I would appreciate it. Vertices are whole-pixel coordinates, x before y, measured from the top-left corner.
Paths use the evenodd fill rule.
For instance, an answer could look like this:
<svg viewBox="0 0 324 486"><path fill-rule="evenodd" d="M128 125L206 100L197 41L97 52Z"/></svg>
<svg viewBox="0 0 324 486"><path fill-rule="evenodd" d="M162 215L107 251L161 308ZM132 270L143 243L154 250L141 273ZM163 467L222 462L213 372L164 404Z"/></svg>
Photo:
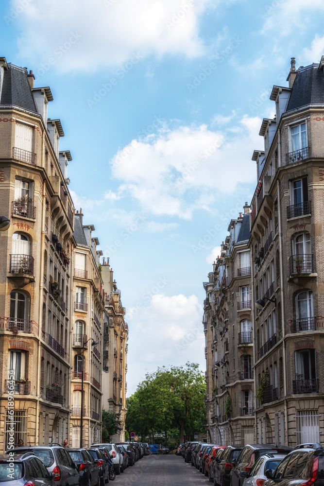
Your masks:
<svg viewBox="0 0 324 486"><path fill-rule="evenodd" d="M324 72L318 64L299 68L292 85L287 111L307 104L324 104Z"/></svg>

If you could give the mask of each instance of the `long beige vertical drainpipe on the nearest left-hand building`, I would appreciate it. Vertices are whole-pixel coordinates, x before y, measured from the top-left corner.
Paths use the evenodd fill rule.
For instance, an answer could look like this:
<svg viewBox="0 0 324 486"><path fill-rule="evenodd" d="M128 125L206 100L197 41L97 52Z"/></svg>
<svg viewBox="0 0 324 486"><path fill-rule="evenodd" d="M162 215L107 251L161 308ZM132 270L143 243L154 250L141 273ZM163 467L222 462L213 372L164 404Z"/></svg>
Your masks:
<svg viewBox="0 0 324 486"><path fill-rule="evenodd" d="M44 132L43 132L44 135ZM42 165L44 164L42 149ZM45 238L45 212L46 212L46 181L43 180L43 201L42 201L42 222L41 222L41 240L40 240L40 269L39 269L39 311L38 311L38 347L37 347L37 375L36 375L36 430L35 444L39 444L39 394L40 394L40 354L41 354L41 326L43 314L43 279L44 279L44 238Z"/></svg>

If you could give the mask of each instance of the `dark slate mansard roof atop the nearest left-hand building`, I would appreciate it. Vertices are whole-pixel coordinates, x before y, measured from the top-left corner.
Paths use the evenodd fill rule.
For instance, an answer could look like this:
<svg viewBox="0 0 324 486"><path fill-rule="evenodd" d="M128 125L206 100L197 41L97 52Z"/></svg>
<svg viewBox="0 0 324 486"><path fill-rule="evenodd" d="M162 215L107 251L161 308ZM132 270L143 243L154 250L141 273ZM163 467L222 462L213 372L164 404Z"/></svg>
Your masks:
<svg viewBox="0 0 324 486"><path fill-rule="evenodd" d="M37 113L27 72L13 64L4 69L0 104L15 105Z"/></svg>

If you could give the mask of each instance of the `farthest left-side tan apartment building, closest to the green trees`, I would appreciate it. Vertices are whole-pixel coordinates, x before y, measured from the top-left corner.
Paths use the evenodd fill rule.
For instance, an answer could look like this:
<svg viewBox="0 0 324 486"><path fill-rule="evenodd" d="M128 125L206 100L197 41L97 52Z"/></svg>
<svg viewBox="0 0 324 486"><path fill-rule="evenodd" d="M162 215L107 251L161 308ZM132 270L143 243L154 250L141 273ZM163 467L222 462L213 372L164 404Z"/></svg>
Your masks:
<svg viewBox="0 0 324 486"><path fill-rule="evenodd" d="M110 439L120 442L125 440L127 413L128 324L124 319L125 308L122 307L120 290L117 288L108 259L102 262L102 279L106 290L103 323L102 407L104 410L119 415L122 429Z"/></svg>

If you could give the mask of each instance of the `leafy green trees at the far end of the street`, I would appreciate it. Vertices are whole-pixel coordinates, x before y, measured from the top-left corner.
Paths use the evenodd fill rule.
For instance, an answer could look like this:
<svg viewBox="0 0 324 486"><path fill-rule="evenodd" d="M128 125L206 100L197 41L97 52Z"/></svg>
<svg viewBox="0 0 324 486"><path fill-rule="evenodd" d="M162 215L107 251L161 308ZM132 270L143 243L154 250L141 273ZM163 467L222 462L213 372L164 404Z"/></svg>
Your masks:
<svg viewBox="0 0 324 486"><path fill-rule="evenodd" d="M205 377L199 365L163 366L148 373L127 400L126 430L141 435L176 429L184 435L202 432L205 423Z"/></svg>

